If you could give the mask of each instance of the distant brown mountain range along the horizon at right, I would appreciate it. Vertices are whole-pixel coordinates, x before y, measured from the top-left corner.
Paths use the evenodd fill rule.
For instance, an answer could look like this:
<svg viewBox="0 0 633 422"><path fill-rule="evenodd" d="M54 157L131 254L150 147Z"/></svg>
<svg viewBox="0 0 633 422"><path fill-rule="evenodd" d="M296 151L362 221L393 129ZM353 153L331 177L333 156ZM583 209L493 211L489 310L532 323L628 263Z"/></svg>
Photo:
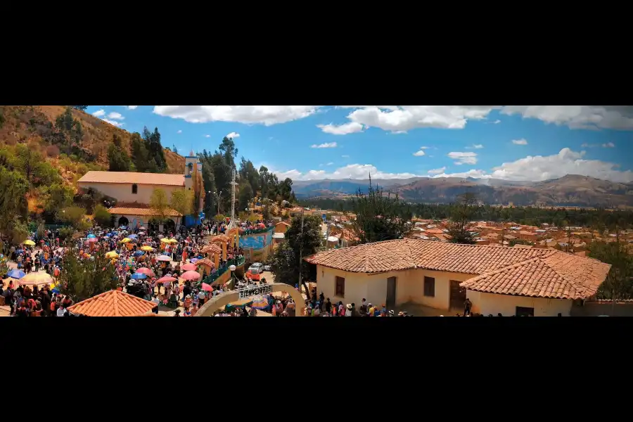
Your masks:
<svg viewBox="0 0 633 422"><path fill-rule="evenodd" d="M565 205L577 207L633 206L633 183L621 184L593 177L568 174L546 181L509 181L445 177L432 179L372 179L384 191L399 193L404 200L424 203L451 203L462 193L475 193L488 204ZM344 198L361 188L366 192L369 180L295 181L298 198Z"/></svg>

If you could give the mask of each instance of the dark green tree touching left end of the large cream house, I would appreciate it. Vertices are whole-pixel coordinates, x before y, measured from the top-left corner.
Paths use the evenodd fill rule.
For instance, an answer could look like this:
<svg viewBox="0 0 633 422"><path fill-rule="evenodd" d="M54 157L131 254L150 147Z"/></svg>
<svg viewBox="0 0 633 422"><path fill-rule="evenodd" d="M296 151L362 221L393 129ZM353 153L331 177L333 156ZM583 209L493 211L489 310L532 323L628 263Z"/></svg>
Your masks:
<svg viewBox="0 0 633 422"><path fill-rule="evenodd" d="M309 292L305 284L309 267L307 264L300 265L300 260L318 252L321 247L321 218L316 215L304 216L303 228L301 223L302 217L293 217L286 231L286 243L276 249L271 271L275 275L275 282L295 286L299 282L299 268L302 267L302 284L305 291Z"/></svg>

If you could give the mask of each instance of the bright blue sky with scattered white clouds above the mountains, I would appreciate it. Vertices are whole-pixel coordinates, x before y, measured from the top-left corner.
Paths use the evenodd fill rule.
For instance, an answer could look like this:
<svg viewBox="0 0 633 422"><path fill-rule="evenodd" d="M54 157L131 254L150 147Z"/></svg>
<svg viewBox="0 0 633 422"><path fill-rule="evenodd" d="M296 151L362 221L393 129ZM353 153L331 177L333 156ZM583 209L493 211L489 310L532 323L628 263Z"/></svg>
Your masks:
<svg viewBox="0 0 633 422"><path fill-rule="evenodd" d="M158 127L181 155L238 155L278 177L475 177L539 181L582 174L633 181L630 106L89 106L126 129ZM239 158L239 157L238 157Z"/></svg>

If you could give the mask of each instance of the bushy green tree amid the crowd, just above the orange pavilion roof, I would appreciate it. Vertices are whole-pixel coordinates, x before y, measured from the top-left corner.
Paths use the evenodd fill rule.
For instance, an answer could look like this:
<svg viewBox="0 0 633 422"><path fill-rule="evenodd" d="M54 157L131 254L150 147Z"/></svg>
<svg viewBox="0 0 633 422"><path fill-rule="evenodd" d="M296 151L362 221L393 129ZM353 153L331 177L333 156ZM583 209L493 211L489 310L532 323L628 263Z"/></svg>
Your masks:
<svg viewBox="0 0 633 422"><path fill-rule="evenodd" d="M59 274L59 290L74 302L114 290L118 286L115 268L103 251L91 258L79 258L77 248L66 250Z"/></svg>

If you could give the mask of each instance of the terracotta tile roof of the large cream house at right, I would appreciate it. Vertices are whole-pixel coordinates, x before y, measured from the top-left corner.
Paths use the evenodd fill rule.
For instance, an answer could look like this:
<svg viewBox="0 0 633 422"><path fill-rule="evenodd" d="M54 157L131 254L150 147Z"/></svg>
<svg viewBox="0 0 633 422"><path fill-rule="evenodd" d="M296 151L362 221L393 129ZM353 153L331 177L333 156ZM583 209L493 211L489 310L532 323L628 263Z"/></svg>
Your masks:
<svg viewBox="0 0 633 422"><path fill-rule="evenodd" d="M610 265L551 249L461 245L414 239L366 243L305 258L342 271L381 273L430 269L473 274L462 287L486 293L542 298L587 298Z"/></svg>

